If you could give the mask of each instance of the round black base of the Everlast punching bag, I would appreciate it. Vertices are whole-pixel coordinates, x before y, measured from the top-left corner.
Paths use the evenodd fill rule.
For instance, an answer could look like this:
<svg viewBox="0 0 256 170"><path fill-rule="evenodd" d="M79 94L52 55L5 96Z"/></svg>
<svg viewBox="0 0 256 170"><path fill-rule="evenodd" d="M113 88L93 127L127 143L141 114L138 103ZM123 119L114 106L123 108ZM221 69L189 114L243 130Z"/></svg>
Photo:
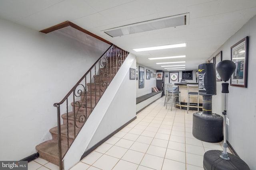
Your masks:
<svg viewBox="0 0 256 170"><path fill-rule="evenodd" d="M193 113L192 134L196 139L205 142L220 142L223 140L223 117L212 113L204 115L202 112Z"/></svg>

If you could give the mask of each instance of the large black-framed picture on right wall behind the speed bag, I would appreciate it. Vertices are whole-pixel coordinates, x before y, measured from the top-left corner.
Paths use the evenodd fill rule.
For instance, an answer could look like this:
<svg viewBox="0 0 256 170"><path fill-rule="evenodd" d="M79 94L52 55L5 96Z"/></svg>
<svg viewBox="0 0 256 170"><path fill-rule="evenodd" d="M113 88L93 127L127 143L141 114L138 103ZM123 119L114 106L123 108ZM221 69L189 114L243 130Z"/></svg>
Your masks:
<svg viewBox="0 0 256 170"><path fill-rule="evenodd" d="M231 61L236 69L230 78L230 86L247 88L249 37L245 37L231 47Z"/></svg>

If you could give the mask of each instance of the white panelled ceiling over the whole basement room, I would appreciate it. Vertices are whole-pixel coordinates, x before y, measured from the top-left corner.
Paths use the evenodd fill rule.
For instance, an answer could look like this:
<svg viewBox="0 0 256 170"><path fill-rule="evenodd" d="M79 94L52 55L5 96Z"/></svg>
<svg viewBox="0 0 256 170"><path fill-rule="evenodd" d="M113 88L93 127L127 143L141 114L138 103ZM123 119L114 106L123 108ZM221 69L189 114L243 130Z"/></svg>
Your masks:
<svg viewBox="0 0 256 170"><path fill-rule="evenodd" d="M188 24L111 37L103 30L189 13ZM256 15L256 0L0 0L0 18L40 31L70 21L137 56L137 63L164 70L162 62L204 63ZM186 43L186 47L135 52L132 49ZM186 58L148 60L186 55Z"/></svg>

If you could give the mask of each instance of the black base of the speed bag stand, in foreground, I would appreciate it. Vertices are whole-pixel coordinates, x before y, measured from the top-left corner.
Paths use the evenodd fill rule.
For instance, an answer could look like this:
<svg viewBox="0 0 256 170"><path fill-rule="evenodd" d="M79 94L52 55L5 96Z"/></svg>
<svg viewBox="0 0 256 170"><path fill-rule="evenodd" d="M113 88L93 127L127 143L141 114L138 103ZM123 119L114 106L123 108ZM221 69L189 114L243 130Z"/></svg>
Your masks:
<svg viewBox="0 0 256 170"><path fill-rule="evenodd" d="M229 160L220 158L222 151L209 150L204 153L204 170L250 170L238 156L228 153Z"/></svg>

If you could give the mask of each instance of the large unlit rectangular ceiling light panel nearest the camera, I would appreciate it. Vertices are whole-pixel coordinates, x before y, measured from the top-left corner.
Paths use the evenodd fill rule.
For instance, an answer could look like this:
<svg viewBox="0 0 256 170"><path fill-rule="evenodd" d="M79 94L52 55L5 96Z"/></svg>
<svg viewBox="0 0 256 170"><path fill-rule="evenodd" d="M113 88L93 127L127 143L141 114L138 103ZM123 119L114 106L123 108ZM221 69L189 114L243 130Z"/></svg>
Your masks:
<svg viewBox="0 0 256 170"><path fill-rule="evenodd" d="M164 18L159 18L155 20L148 20L139 23L133 23L130 25L124 25L121 27L115 27L112 29L103 30L104 33L110 35L111 37L119 37L122 35L129 35L134 33L141 33L145 31L152 31L156 29L163 29L168 27L177 27L181 25L186 25L189 13L180 14L176 16L169 16Z"/></svg>

